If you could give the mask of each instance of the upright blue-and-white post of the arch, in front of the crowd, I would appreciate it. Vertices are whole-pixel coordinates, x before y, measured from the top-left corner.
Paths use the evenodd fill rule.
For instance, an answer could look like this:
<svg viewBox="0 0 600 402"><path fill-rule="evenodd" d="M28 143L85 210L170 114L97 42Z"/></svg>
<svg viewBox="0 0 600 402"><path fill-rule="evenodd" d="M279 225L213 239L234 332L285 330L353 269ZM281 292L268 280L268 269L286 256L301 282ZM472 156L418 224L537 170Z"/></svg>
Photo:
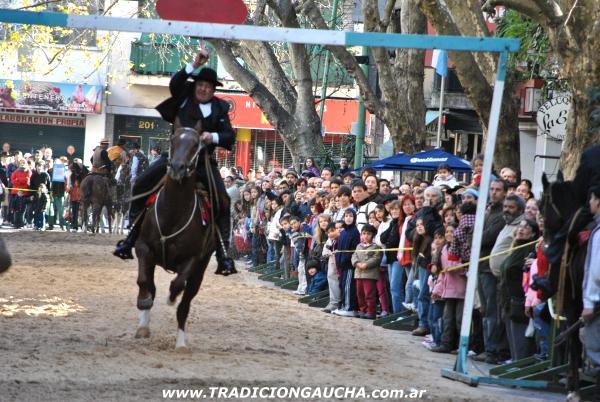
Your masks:
<svg viewBox="0 0 600 402"><path fill-rule="evenodd" d="M498 134L498 122L500 120L500 108L502 106L502 94L504 93L504 79L506 77L506 63L508 52L500 53L498 60L498 71L496 73L496 84L492 98L492 108L488 124L488 137L485 144L485 155L483 158L483 176L479 185L479 202L475 215L475 229L473 232L473 243L471 244L471 260L467 279L467 291L463 310L462 326L460 328L460 345L454 370L467 374L467 353L469 351L469 333L471 331L471 316L473 314L473 303L475 301L475 290L477 285L477 274L479 268L479 249L481 248L481 235L483 233L483 220L485 218L486 200L488 199L490 179L492 174L492 160L494 148L496 147L496 135Z"/></svg>

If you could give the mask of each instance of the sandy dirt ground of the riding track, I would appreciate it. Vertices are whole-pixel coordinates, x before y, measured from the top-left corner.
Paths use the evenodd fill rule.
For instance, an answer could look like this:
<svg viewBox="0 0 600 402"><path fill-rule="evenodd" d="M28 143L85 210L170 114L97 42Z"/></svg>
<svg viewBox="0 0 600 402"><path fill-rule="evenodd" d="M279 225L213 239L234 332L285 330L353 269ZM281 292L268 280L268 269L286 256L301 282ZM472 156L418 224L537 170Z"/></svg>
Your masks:
<svg viewBox="0 0 600 402"><path fill-rule="evenodd" d="M1 401L161 401L163 389L364 386L423 389L433 401L552 401L560 395L469 387L440 376L454 356L421 338L297 302L289 291L211 263L175 352L165 303L172 276L157 269L151 337L135 339L137 264L110 254L116 237L1 234L14 266L0 276ZM477 374L483 366L471 367Z"/></svg>

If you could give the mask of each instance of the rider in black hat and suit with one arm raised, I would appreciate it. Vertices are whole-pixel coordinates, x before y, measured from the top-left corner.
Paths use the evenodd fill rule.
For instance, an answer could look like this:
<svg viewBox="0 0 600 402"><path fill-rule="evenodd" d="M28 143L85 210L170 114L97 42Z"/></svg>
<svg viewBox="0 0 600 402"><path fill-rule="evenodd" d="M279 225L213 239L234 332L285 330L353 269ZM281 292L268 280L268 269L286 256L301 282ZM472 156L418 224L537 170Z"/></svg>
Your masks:
<svg viewBox="0 0 600 402"><path fill-rule="evenodd" d="M217 163L212 157L214 149L218 146L231 150L235 143L235 132L229 121L229 105L227 102L214 96L217 86L222 86L217 81L217 73L211 68L203 68L198 74L194 71L208 61L208 53L200 50L194 61L177 72L169 83L171 98L156 107L161 116L169 123L174 123L177 118L184 127L195 127L198 122L202 124L203 132L200 139L205 145L206 152L211 155L210 172L203 167L202 158L198 158L196 173L198 180L208 188L208 175L212 174L217 187L218 204L216 224L218 226L221 246L217 247L218 267L216 274L229 275L237 273L233 260L227 256L229 247L229 234L231 223L229 217L229 196L225 190L223 179L219 174ZM191 78L194 82L189 82ZM167 172L168 160L160 158L151 164L139 176L132 188L132 195L144 194L151 191ZM130 232L125 240L117 243L114 255L122 259L131 259L131 249L140 231L142 219L138 219L145 210L146 198L134 199L129 210Z"/></svg>

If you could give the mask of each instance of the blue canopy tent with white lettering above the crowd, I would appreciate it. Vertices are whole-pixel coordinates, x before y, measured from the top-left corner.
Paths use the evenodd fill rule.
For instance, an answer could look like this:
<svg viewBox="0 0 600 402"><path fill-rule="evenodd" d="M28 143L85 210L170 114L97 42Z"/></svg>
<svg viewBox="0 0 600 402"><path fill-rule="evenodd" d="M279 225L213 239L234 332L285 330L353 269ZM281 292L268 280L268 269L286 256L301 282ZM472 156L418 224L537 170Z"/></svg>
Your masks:
<svg viewBox="0 0 600 402"><path fill-rule="evenodd" d="M439 148L412 155L400 152L389 158L374 161L369 166L375 170L435 171L443 163L450 166L453 172L471 172L469 161Z"/></svg>

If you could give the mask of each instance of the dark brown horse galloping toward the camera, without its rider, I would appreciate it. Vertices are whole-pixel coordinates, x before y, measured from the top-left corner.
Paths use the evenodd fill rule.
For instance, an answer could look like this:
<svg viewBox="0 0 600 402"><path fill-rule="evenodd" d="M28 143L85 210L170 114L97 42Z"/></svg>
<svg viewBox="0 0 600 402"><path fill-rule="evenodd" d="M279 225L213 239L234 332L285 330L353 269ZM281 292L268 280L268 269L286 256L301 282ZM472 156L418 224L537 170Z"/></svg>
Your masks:
<svg viewBox="0 0 600 402"><path fill-rule="evenodd" d="M201 197L196 188L196 163L204 157L198 127L176 127L164 186L143 218L135 244L138 258L140 310L136 338L150 336L150 309L156 295L154 268L160 265L177 275L169 287L168 303L177 307L176 348L185 348L185 321L190 302L198 293L204 271L216 247L214 220L206 224L200 213Z"/></svg>

